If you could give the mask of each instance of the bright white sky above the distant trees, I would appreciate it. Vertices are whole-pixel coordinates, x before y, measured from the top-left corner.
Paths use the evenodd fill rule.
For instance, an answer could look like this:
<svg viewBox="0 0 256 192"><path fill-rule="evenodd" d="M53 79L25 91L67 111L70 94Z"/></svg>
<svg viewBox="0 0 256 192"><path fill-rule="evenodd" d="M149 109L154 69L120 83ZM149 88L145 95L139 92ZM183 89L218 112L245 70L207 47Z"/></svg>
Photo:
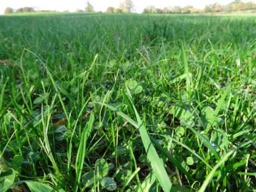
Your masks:
<svg viewBox="0 0 256 192"><path fill-rule="evenodd" d="M107 7L118 7L122 0L89 0L95 11L106 11ZM205 5L220 3L222 5L231 3L233 0L133 0L135 11L142 13L147 6L153 5L158 8L173 7L179 5L184 7L192 5L193 7L203 9ZM256 0L251 0L256 3ZM0 0L0 14L3 14L6 7L18 9L19 7L35 7L42 10L56 11L76 11L84 9L87 0ZM247 2L246 0L244 2Z"/></svg>

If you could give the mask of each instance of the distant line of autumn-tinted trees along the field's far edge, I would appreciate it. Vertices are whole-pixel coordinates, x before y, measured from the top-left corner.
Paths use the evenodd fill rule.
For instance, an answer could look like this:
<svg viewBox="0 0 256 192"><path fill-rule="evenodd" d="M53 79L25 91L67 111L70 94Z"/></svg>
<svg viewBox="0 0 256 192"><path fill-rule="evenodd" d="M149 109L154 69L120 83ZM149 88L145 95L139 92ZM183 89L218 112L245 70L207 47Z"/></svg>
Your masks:
<svg viewBox="0 0 256 192"><path fill-rule="evenodd" d="M232 3L227 5L220 5L219 3L214 3L211 5L206 5L204 9L197 9L193 6L186 7L164 7L163 9L150 6L146 7L143 13L218 13L218 12L232 12L232 11L248 11L248 10L256 10L256 3L253 2L243 2L241 0L235 0ZM134 3L132 0L124 0L120 3L119 7L108 7L105 13L132 13L134 11ZM12 9L11 7L7 7L5 9L5 14L10 13L29 13L36 12L33 7L21 7L19 9ZM55 11L47 11L43 10L40 12L55 12ZM68 11L64 11L68 12ZM85 13L94 13L94 7L87 2L86 7L82 9L78 9L76 12L85 12ZM99 13L102 13L100 11Z"/></svg>

